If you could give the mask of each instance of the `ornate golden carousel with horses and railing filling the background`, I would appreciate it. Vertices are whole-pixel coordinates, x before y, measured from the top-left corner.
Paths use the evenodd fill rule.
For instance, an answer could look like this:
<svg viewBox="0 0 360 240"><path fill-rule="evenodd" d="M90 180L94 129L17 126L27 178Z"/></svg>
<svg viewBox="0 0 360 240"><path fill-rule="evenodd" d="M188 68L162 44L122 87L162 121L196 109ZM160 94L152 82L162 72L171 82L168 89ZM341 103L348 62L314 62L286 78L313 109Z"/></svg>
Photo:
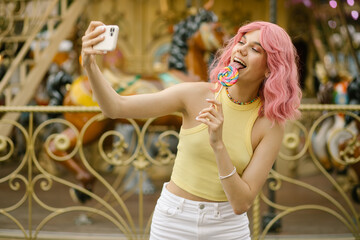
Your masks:
<svg viewBox="0 0 360 240"><path fill-rule="evenodd" d="M181 115L101 113L81 67L91 20L119 27L116 48L96 60L120 95L208 82L239 26L284 27L302 117L286 124L249 211L252 239L360 239L360 3L250 2L1 1L0 239L149 238Z"/></svg>

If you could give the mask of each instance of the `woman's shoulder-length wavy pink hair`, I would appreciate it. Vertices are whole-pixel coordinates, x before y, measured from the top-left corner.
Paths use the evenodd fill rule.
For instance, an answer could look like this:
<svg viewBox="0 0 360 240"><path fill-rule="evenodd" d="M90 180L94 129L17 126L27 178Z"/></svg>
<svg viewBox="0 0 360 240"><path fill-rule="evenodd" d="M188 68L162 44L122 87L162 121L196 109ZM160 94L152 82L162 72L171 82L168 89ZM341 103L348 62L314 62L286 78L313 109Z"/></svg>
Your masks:
<svg viewBox="0 0 360 240"><path fill-rule="evenodd" d="M252 22L240 27L237 34L219 50L210 69L210 80L217 81L221 69L230 64L231 51L247 32L260 30L260 44L267 53L270 75L261 84L259 95L262 107L259 115L273 123L285 123L300 117L298 110L301 100L296 49L286 31L269 22Z"/></svg>

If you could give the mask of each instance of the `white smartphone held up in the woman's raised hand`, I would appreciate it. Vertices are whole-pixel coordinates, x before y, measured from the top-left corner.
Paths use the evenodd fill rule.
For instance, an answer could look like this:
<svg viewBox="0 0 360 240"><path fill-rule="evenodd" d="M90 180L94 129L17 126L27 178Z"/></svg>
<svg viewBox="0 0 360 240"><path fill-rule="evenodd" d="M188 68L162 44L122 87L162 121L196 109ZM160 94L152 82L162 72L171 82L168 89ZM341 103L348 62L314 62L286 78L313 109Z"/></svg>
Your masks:
<svg viewBox="0 0 360 240"><path fill-rule="evenodd" d="M105 27L105 32L100 34L100 36L105 36L105 39L98 44L94 45L93 48L95 50L101 51L112 51L116 48L117 38L119 34L119 27L116 25L106 25L106 26L98 26L95 28Z"/></svg>

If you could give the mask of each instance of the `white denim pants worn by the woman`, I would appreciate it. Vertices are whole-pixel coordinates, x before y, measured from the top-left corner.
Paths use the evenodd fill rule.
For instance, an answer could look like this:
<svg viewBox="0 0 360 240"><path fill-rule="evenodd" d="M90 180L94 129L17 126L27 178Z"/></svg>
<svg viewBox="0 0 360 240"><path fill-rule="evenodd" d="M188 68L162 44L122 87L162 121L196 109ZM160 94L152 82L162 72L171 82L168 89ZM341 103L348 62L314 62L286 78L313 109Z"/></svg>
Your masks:
<svg viewBox="0 0 360 240"><path fill-rule="evenodd" d="M150 240L250 240L247 214L236 215L229 202L199 202L169 192L157 201Z"/></svg>

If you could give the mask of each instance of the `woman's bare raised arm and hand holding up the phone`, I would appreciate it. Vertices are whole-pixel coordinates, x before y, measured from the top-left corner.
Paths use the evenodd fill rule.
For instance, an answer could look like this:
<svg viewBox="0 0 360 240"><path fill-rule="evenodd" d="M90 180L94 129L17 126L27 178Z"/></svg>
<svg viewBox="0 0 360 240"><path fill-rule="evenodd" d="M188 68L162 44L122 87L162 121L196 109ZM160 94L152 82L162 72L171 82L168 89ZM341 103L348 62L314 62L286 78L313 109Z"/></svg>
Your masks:
<svg viewBox="0 0 360 240"><path fill-rule="evenodd" d="M121 96L111 87L100 71L95 55L106 52L94 50L93 45L101 42L99 36L105 29L96 27L102 22L92 21L82 38L82 65L89 78L96 101L103 114L110 118L149 118L184 111L183 96L188 84L178 84L151 94Z"/></svg>

